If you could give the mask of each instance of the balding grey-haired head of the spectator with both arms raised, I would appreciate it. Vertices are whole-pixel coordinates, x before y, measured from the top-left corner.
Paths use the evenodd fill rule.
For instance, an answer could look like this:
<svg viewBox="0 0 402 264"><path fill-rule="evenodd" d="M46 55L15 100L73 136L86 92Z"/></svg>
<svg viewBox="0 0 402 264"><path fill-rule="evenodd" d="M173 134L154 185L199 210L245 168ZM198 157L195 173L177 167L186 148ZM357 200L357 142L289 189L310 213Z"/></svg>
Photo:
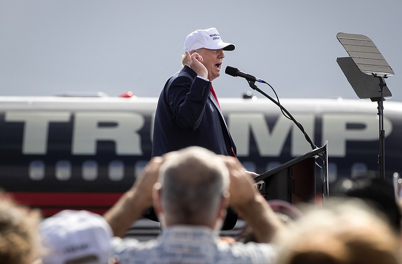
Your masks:
<svg viewBox="0 0 402 264"><path fill-rule="evenodd" d="M165 215L177 224L205 224L218 213L229 188L229 171L213 152L188 147L162 164L159 181Z"/></svg>

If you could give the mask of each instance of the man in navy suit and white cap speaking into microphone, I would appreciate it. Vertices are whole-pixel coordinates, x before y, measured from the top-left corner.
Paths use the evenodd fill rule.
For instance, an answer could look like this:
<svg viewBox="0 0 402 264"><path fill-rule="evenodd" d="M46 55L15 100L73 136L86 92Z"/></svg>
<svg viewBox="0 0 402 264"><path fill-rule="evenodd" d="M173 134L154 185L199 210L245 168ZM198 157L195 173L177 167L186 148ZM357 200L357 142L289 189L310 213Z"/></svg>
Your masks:
<svg viewBox="0 0 402 264"><path fill-rule="evenodd" d="M236 156L212 81L220 76L224 51L235 45L222 41L215 28L196 30L184 43L183 68L166 82L156 108L152 157L189 146Z"/></svg>

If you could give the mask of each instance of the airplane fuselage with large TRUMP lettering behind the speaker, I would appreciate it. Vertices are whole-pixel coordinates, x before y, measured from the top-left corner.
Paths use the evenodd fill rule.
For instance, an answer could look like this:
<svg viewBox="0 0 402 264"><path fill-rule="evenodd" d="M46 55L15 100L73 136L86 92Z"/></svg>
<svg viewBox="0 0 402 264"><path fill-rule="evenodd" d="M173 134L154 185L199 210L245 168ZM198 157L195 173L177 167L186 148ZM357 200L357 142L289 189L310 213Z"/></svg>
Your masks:
<svg viewBox="0 0 402 264"><path fill-rule="evenodd" d="M131 187L151 157L157 98L0 97L0 186L53 214L103 212ZM222 98L237 156L263 173L311 150L266 99ZM328 141L329 182L378 172L376 104L281 99L317 146ZM402 103L384 103L385 177L401 173Z"/></svg>

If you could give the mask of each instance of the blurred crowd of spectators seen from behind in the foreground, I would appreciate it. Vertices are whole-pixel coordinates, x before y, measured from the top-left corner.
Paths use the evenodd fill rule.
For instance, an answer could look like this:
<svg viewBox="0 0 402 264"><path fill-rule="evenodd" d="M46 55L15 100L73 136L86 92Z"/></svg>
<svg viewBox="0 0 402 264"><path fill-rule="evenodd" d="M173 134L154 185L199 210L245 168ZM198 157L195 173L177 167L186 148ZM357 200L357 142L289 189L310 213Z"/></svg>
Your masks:
<svg viewBox="0 0 402 264"><path fill-rule="evenodd" d="M340 181L317 205L265 201L238 161L200 147L153 158L105 215L36 210L0 200L5 264L402 263L400 211L392 186L367 177ZM228 206L247 223L241 241L219 230ZM153 207L161 234L125 237ZM244 238L244 237L243 237Z"/></svg>

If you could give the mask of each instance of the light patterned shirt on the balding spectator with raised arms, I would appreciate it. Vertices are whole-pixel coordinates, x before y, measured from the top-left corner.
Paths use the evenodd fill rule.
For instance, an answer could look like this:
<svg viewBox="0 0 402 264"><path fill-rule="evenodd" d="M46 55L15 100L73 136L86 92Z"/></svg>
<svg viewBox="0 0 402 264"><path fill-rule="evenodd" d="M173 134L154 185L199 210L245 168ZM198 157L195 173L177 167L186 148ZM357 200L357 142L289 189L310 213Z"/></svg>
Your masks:
<svg viewBox="0 0 402 264"><path fill-rule="evenodd" d="M180 225L166 228L154 240L114 238L119 264L138 263L264 263L273 262L276 251L270 244L227 243L210 228Z"/></svg>

